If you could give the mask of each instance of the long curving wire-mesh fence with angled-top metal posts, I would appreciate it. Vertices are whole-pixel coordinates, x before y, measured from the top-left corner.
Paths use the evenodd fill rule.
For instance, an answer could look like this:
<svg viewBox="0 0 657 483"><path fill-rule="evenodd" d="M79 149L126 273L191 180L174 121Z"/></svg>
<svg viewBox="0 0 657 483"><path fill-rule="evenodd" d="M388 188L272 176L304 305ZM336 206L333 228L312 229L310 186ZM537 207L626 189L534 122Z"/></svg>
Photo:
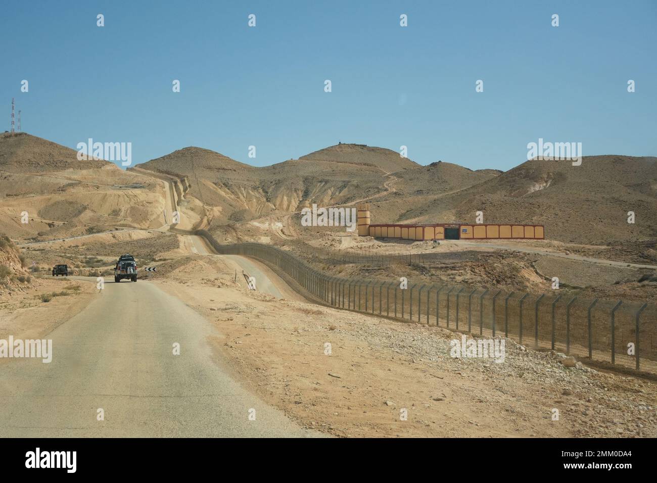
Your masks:
<svg viewBox="0 0 657 483"><path fill-rule="evenodd" d="M327 306L480 336L504 335L535 349L657 373L655 304L581 298L576 292L528 294L440 283L409 282L401 288L399 280L329 275L292 252L267 244L225 245L206 230L171 231L203 237L219 254L261 260Z"/></svg>

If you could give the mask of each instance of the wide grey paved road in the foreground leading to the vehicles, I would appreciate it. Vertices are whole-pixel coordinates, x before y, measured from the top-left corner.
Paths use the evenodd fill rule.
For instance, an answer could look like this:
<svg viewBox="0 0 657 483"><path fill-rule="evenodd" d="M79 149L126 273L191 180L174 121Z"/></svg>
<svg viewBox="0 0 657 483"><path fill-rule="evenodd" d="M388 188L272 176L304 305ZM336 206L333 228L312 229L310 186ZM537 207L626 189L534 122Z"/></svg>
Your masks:
<svg viewBox="0 0 657 483"><path fill-rule="evenodd" d="M85 310L47 336L51 363L0 361L0 437L319 435L232 379L207 342L217 335L151 283L105 283Z"/></svg>

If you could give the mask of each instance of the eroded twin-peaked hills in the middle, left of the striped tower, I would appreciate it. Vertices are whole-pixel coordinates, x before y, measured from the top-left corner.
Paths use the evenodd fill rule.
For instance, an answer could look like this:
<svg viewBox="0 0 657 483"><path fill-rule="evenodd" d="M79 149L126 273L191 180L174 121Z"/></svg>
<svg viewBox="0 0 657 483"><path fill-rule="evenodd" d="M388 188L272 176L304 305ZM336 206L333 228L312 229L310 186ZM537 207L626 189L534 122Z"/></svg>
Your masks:
<svg viewBox="0 0 657 483"><path fill-rule="evenodd" d="M380 193L388 172L417 167L392 150L351 144L262 168L200 148L177 150L139 165L187 175L190 194L211 207L215 223L259 218L277 210L294 212L313 203L352 203Z"/></svg>

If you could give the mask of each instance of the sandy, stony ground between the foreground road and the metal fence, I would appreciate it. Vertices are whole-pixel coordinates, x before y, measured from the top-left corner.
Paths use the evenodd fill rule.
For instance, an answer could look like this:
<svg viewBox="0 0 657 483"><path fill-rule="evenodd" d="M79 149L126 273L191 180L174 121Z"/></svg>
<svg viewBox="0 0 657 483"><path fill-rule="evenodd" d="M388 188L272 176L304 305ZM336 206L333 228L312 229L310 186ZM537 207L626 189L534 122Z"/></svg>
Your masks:
<svg viewBox="0 0 657 483"><path fill-rule="evenodd" d="M217 276L198 280L193 264L214 264ZM154 283L217 326L210 343L238 379L309 428L347 437L657 436L653 382L565 367L562 356L509 339L501 363L454 358L450 341L461 334L276 299L220 267L194 260Z"/></svg>

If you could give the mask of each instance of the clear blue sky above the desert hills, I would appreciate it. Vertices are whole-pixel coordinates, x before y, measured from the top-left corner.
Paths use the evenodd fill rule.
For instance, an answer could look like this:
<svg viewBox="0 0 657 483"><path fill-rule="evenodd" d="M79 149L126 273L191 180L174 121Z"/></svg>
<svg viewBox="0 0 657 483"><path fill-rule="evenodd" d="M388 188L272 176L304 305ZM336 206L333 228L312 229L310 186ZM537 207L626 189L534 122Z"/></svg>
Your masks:
<svg viewBox="0 0 657 483"><path fill-rule="evenodd" d="M539 137L581 142L585 156L657 156L657 1L24 1L2 11L2 130L15 97L24 131L74 149L89 137L131 142L133 164L198 146L266 166L342 141L507 170Z"/></svg>

